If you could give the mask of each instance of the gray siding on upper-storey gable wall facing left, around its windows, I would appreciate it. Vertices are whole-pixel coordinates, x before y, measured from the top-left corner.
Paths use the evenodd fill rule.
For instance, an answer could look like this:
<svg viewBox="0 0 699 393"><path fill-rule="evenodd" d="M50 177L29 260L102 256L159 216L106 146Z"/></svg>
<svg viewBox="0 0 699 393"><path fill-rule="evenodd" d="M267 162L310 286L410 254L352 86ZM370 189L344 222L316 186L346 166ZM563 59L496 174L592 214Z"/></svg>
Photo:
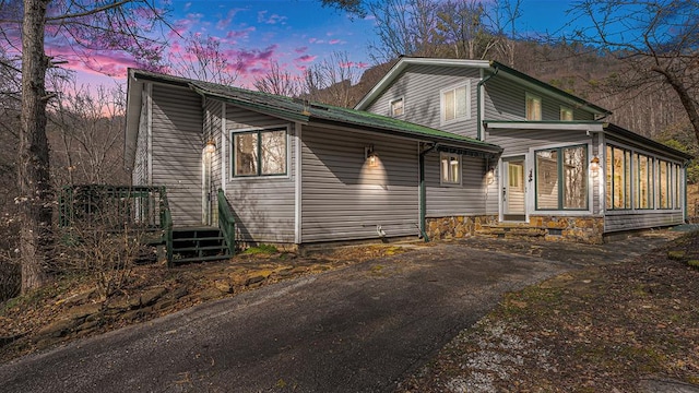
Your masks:
<svg viewBox="0 0 699 393"><path fill-rule="evenodd" d="M396 117L398 119L476 138L476 85L479 79L481 72L477 69L411 67L366 110L391 116L389 103L403 97L405 114ZM441 126L440 91L465 81L470 81L471 85L471 118Z"/></svg>

